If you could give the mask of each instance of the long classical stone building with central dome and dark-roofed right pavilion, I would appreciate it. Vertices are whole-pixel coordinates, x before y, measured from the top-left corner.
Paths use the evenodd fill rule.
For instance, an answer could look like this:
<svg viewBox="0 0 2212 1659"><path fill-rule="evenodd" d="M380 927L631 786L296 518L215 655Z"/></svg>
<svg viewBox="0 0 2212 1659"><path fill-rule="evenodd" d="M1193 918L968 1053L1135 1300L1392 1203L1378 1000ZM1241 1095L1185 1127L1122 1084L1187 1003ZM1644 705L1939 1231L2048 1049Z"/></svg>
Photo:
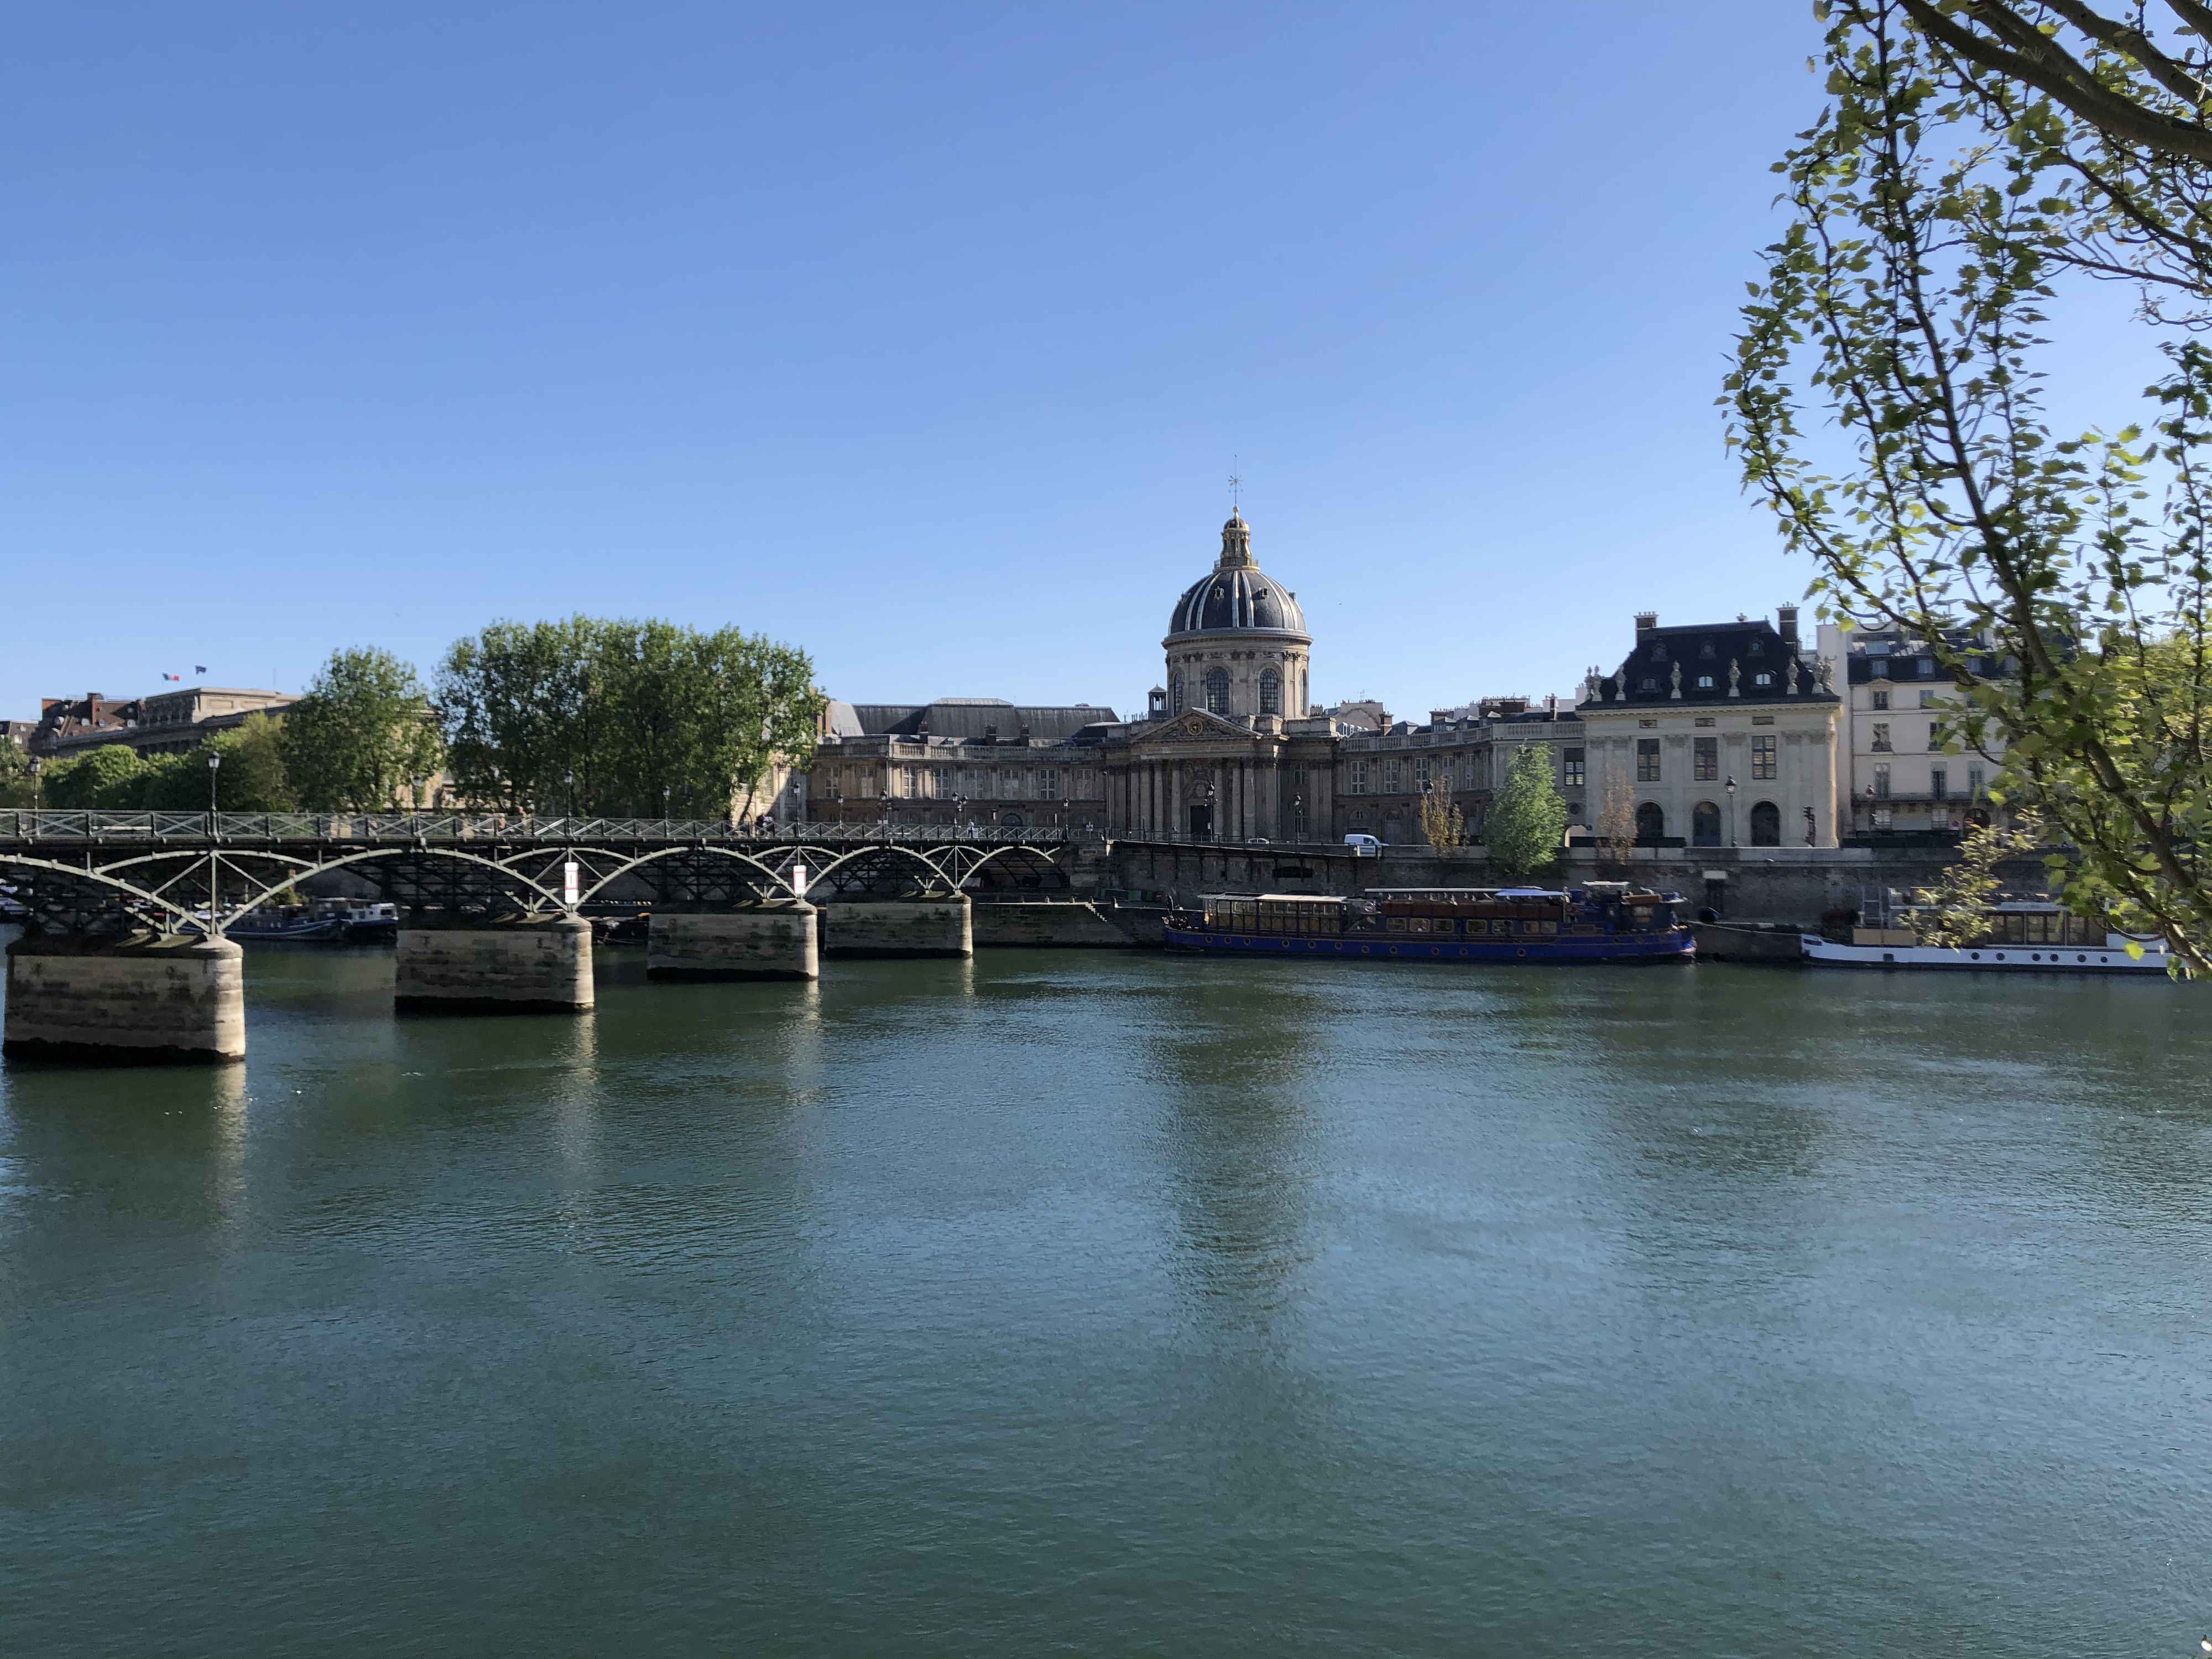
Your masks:
<svg viewBox="0 0 2212 1659"><path fill-rule="evenodd" d="M1659 628L1575 706L1484 697L1394 721L1312 701L1298 595L1261 571L1241 513L1175 602L1141 719L995 699L832 703L787 812L843 823L1068 825L1175 841L1427 836L1455 810L1480 838L1522 748L1548 752L1571 825L1601 827L1606 779L1650 845L1836 845L1838 699L1798 655L1796 611ZM1736 779L1730 796L1728 779ZM1734 821L1732 821L1734 812ZM1809 816L1807 816L1809 812Z"/></svg>

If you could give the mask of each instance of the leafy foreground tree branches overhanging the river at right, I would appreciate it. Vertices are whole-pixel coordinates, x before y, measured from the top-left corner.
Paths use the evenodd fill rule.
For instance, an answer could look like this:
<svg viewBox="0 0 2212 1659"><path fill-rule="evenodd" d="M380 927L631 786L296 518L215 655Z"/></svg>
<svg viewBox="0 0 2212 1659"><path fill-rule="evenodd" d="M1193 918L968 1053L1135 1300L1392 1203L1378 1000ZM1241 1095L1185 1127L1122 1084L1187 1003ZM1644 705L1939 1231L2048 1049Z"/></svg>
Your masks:
<svg viewBox="0 0 2212 1659"><path fill-rule="evenodd" d="M1794 221L1743 310L1732 442L1829 613L1931 644L1964 692L1949 752L2037 814L2066 902L2203 973L2212 352L2163 341L2148 427L2062 434L2042 405L2062 276L2201 290L2093 177L2128 164L2104 135L2031 84L1960 80L1980 71L1922 13L1829 13L1832 102L1776 168ZM2194 186L2170 168L2159 188Z"/></svg>

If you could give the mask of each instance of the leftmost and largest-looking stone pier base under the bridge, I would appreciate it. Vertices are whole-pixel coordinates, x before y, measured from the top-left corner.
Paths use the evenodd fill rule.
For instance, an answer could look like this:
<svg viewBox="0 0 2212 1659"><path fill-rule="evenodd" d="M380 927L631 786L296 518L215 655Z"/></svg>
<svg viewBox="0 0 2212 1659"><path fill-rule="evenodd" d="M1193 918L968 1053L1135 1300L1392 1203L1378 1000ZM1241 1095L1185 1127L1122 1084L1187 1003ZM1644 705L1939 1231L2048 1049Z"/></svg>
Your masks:
<svg viewBox="0 0 2212 1659"><path fill-rule="evenodd" d="M246 973L230 940L20 938L7 947L13 1060L100 1066L246 1060Z"/></svg>

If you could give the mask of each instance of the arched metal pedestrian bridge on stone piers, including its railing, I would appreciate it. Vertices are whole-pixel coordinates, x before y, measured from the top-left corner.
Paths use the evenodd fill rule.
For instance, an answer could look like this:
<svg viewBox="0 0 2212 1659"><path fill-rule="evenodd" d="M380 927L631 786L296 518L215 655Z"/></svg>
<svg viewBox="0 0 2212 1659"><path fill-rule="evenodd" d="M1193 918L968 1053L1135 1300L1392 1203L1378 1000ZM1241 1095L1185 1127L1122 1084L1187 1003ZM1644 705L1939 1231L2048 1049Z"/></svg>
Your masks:
<svg viewBox="0 0 2212 1659"><path fill-rule="evenodd" d="M653 978L816 978L827 956L969 956L971 894L1066 889L1071 830L476 812L0 810L9 1055L237 1060L239 945L310 889L400 911L403 1009L580 1011L591 920L650 911Z"/></svg>

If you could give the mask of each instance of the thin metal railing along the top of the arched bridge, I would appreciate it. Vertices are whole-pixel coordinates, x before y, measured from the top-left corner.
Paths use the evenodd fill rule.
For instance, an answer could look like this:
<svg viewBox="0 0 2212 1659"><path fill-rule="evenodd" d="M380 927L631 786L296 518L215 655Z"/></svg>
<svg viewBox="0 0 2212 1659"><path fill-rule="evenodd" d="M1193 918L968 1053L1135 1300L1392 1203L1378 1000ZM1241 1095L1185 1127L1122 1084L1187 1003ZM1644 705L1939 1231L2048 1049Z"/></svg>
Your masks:
<svg viewBox="0 0 2212 1659"><path fill-rule="evenodd" d="M0 807L0 841L55 843L721 843L1057 847L1102 841L1095 830L995 830L982 825L790 823L732 825L726 818L553 818L511 812L71 812Z"/></svg>

